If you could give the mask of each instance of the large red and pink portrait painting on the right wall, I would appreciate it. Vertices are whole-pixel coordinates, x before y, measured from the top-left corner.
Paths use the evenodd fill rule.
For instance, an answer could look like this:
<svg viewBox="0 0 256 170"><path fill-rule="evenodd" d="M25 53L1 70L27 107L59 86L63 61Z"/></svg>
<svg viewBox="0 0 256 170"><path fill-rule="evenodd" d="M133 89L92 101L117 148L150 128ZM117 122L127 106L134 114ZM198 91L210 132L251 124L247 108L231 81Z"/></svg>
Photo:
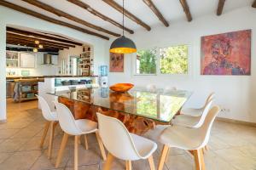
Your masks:
<svg viewBox="0 0 256 170"><path fill-rule="evenodd" d="M251 30L201 37L201 75L251 75Z"/></svg>

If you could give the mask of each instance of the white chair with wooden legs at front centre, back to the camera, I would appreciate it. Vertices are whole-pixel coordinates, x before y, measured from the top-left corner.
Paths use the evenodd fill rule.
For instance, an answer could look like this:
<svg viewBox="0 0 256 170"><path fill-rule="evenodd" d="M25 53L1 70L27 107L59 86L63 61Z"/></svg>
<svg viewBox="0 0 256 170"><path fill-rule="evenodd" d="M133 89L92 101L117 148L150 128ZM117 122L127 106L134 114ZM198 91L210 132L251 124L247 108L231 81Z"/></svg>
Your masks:
<svg viewBox="0 0 256 170"><path fill-rule="evenodd" d="M111 169L113 158L126 162L126 169L131 170L131 161L148 159L149 167L154 170L152 154L157 144L134 133L129 133L125 125L118 119L97 113L99 133L102 142L108 150L104 170Z"/></svg>

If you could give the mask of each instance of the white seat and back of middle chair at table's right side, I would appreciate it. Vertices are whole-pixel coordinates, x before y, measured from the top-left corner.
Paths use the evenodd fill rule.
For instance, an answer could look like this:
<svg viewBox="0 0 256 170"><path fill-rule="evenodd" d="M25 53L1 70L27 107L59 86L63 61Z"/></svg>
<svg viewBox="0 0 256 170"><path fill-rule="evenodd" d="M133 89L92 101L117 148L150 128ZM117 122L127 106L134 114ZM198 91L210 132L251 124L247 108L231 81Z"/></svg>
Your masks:
<svg viewBox="0 0 256 170"><path fill-rule="evenodd" d="M213 99L210 99L207 105L204 107L201 116L189 116L189 115L177 115L172 119L172 125L198 128L201 127L205 121L208 111L211 109Z"/></svg>

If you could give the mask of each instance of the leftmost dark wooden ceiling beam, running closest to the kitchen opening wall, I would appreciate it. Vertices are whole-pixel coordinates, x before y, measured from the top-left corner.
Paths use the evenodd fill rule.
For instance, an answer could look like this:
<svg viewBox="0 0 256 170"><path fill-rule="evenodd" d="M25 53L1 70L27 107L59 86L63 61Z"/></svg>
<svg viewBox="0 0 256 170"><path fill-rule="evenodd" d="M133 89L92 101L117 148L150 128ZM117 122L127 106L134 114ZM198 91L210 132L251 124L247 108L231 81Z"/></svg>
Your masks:
<svg viewBox="0 0 256 170"><path fill-rule="evenodd" d="M101 34L93 32L93 31L86 30L86 29L81 28L79 26L71 25L71 24L69 24L67 22L63 22L61 20L55 20L54 18L50 18L49 16L46 16L44 14L37 13L37 12L32 11L28 8L20 7L19 5L15 5L14 3L9 3L9 2L6 2L4 0L1 0L0 5L2 5L3 7L12 8L16 11L19 11L20 13L32 15L33 17L36 17L36 18L41 19L41 20L49 21L49 22L54 23L56 25L66 26L66 27L72 28L73 30L76 30L76 31L81 31L81 32L84 32L86 34L90 34L92 36L101 37L103 39L109 40L109 37L103 36Z"/></svg>

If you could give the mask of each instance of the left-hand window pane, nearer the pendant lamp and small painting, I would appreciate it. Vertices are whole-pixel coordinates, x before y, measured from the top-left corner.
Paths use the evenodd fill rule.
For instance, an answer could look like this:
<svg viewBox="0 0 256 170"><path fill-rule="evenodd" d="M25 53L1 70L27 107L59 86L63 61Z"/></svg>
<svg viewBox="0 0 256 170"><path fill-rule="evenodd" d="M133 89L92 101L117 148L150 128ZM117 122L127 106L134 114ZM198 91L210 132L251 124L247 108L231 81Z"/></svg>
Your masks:
<svg viewBox="0 0 256 170"><path fill-rule="evenodd" d="M156 48L137 51L136 73L156 74L156 59Z"/></svg>

